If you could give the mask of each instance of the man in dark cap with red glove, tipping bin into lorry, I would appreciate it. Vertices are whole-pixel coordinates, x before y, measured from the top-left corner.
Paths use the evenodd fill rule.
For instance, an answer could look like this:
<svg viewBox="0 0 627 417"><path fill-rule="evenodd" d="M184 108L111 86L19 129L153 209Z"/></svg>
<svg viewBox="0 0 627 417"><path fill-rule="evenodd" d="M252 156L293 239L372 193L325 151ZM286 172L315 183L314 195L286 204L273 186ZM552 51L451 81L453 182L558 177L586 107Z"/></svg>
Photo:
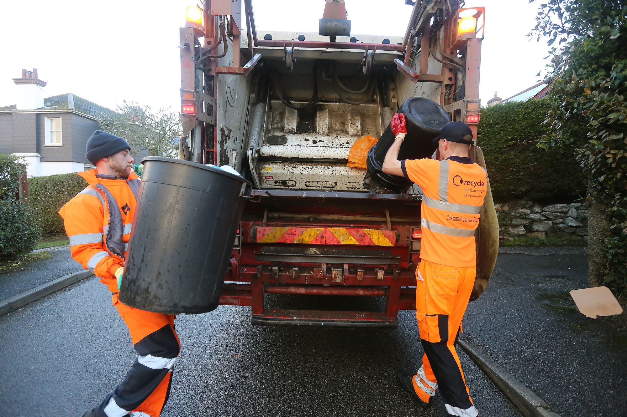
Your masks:
<svg viewBox="0 0 627 417"><path fill-rule="evenodd" d="M440 388L451 416L475 417L455 347L475 282L475 230L487 192L487 173L470 160L470 126L449 123L433 142L440 160L398 160L407 129L403 114L391 123L394 143L383 171L408 178L423 192L421 262L416 269L416 319L424 348L416 374L398 371L401 386L423 408Z"/></svg>

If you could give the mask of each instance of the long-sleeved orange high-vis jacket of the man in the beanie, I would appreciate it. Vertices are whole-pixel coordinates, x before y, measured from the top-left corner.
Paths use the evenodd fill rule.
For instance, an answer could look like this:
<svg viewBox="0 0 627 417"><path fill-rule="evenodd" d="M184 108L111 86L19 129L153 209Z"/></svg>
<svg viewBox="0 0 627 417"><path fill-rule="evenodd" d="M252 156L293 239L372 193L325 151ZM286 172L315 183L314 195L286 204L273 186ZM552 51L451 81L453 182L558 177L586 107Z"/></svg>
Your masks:
<svg viewBox="0 0 627 417"><path fill-rule="evenodd" d="M65 203L59 214L70 238L76 262L100 277L111 292L118 292L115 271L124 266L135 215L139 177L127 180L98 178L96 169L78 172L89 184Z"/></svg>

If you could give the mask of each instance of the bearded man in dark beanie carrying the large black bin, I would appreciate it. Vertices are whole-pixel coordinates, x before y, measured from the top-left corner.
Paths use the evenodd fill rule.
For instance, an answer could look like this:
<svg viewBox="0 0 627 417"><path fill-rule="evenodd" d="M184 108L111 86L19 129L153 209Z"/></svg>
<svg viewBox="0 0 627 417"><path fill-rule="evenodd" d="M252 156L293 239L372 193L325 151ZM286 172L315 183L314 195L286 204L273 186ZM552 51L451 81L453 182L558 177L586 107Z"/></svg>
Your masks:
<svg viewBox="0 0 627 417"><path fill-rule="evenodd" d="M139 354L124 381L83 417L159 416L181 349L173 315L135 309L118 299L139 192L129 152L124 138L95 131L87 141L85 157L96 169L78 173L87 188L59 211L72 257L112 292L113 306L129 327Z"/></svg>

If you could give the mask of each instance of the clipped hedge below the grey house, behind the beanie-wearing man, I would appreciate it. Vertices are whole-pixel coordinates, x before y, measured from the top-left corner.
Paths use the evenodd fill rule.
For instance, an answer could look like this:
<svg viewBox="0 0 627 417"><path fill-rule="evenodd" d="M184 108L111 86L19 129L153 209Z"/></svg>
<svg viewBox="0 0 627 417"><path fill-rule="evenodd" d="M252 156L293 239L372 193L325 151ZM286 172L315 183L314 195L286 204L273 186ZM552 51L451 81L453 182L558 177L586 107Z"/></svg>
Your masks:
<svg viewBox="0 0 627 417"><path fill-rule="evenodd" d="M28 179L28 205L36 212L43 234L65 234L59 210L85 187L87 182L76 173Z"/></svg>

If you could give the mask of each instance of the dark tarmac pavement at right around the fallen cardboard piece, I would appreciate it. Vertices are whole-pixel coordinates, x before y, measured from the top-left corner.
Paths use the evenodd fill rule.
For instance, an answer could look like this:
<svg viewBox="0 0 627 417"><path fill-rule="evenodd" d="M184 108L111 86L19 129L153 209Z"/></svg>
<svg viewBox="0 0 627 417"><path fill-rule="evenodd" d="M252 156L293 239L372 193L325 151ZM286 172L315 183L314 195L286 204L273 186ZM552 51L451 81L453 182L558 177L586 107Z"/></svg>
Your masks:
<svg viewBox="0 0 627 417"><path fill-rule="evenodd" d="M626 416L627 330L584 316L569 294L587 287L583 249L499 254L464 330L562 416Z"/></svg>

